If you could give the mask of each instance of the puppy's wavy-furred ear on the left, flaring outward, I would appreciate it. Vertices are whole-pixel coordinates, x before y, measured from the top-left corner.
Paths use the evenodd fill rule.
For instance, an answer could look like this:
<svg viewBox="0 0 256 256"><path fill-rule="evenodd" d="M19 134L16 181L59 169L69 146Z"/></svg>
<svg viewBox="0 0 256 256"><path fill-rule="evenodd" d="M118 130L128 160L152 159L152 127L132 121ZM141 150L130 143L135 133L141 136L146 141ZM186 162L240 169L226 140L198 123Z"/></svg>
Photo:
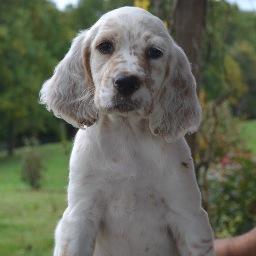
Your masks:
<svg viewBox="0 0 256 256"><path fill-rule="evenodd" d="M40 91L40 103L75 127L90 126L97 119L90 69L90 37L82 31L73 40L53 76Z"/></svg>

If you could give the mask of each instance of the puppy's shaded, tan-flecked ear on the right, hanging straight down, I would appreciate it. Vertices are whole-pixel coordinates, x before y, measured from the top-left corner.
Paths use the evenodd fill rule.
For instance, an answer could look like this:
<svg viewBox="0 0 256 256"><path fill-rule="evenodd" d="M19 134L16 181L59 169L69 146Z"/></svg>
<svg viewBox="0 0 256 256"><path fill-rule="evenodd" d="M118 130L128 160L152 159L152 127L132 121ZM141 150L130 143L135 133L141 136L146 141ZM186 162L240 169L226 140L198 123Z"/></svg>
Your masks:
<svg viewBox="0 0 256 256"><path fill-rule="evenodd" d="M173 50L165 80L149 117L151 132L163 136L167 142L196 131L201 121L201 107L190 64L175 43Z"/></svg>

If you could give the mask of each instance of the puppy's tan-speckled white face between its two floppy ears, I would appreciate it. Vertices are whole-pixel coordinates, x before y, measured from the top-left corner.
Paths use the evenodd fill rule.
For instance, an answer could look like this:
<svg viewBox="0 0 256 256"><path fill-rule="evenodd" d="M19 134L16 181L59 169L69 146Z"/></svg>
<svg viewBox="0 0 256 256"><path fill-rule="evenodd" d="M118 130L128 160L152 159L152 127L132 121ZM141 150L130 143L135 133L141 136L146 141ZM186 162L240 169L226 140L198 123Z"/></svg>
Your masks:
<svg viewBox="0 0 256 256"><path fill-rule="evenodd" d="M132 13L115 19L109 15L98 26L90 66L99 111L142 115L152 111L170 53L165 28L155 19Z"/></svg>

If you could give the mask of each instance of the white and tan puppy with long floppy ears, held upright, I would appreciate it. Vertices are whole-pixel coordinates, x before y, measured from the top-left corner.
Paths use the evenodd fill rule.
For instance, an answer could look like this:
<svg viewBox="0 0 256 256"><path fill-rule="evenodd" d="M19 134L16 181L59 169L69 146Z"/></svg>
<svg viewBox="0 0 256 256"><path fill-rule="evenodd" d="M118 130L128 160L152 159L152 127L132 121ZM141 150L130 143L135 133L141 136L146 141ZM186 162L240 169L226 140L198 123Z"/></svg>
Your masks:
<svg viewBox="0 0 256 256"><path fill-rule="evenodd" d="M55 256L209 256L212 231L184 139L195 79L163 23L135 7L82 31L41 102L79 127Z"/></svg>

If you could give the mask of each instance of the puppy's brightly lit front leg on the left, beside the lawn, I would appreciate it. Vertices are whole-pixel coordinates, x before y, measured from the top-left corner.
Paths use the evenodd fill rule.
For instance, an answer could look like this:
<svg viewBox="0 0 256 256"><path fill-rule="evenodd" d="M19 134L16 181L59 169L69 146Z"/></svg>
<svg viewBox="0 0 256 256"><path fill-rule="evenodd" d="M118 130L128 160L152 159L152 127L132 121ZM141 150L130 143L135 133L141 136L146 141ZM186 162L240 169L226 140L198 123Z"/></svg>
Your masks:
<svg viewBox="0 0 256 256"><path fill-rule="evenodd" d="M54 256L93 255L100 222L96 208L86 200L68 206L55 231Z"/></svg>

